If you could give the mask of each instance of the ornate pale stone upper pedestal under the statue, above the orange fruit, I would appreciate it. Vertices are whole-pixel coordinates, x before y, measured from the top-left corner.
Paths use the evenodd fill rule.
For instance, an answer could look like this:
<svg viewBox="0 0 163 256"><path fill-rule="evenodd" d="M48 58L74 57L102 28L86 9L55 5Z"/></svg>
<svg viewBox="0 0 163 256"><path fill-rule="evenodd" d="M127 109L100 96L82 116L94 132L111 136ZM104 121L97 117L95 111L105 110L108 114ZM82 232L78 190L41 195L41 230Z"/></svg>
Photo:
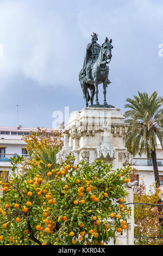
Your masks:
<svg viewBox="0 0 163 256"><path fill-rule="evenodd" d="M64 161L72 153L76 157L75 165L82 159L90 163L103 159L112 163L113 169L131 163L124 142L127 124L123 120L119 108L87 107L72 113L63 130L64 147L58 159Z"/></svg>

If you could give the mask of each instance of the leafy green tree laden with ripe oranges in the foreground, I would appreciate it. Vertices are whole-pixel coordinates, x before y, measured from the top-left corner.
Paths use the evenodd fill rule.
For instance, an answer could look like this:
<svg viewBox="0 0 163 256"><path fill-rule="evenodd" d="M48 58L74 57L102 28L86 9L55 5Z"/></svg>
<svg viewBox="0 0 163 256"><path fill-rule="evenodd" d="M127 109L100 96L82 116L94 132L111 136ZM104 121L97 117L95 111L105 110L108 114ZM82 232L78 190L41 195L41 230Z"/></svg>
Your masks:
<svg viewBox="0 0 163 256"><path fill-rule="evenodd" d="M73 160L58 169L45 163L53 177L46 181L40 163L17 175L22 158L14 158L10 181L0 181L1 245L103 245L125 232L130 208L123 185L130 167L112 171L101 160L76 167Z"/></svg>

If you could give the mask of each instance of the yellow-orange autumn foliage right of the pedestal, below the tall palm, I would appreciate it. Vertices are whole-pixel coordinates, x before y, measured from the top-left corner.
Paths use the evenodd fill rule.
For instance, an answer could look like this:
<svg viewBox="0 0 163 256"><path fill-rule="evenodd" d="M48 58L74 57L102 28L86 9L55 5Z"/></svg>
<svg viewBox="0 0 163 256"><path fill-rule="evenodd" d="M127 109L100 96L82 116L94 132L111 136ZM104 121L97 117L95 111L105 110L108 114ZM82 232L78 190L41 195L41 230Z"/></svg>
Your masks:
<svg viewBox="0 0 163 256"><path fill-rule="evenodd" d="M146 190L144 181L139 187L135 187L134 203L158 204L159 188L155 185ZM163 207L162 207L163 210ZM159 223L160 213L154 205L135 205L135 245L163 245L163 230ZM150 238L150 237L161 237Z"/></svg>

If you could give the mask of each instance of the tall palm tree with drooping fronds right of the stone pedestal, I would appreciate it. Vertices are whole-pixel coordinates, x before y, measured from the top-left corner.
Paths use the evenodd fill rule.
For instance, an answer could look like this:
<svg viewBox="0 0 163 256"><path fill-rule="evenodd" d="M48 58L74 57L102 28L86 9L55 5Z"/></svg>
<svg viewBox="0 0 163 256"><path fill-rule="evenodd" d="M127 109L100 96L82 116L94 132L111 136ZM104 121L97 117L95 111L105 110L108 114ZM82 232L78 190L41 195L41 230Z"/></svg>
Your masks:
<svg viewBox="0 0 163 256"><path fill-rule="evenodd" d="M158 165L156 162L156 147L159 140L163 148L163 97L157 92L148 96L148 93L140 93L134 99L127 98L124 106L130 108L125 112L126 122L129 124L126 136L128 151L145 153L147 158L152 158L156 187L160 186Z"/></svg>

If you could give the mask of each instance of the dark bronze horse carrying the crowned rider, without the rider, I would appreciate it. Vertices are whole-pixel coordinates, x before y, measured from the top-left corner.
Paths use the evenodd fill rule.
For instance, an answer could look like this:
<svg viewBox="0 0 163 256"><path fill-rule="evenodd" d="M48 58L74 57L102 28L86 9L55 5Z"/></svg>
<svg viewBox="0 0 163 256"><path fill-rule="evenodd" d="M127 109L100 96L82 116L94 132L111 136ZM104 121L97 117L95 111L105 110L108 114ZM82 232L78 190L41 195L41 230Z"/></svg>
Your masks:
<svg viewBox="0 0 163 256"><path fill-rule="evenodd" d="M102 44L101 51L99 52L99 56L95 63L91 66L91 77L92 81L87 83L86 78L83 74L83 70L79 72L79 81L83 90L84 99L86 101L86 107L88 106L88 101L91 101L91 105L93 105L93 97L96 94L96 105L99 105L98 102L98 84L103 83L103 94L104 94L104 105L108 105L106 102L106 87L107 84L110 83L108 80L109 75L109 66L106 64L110 63L112 54L111 49L113 46L111 45L112 40L108 38L105 39L104 44ZM109 59L109 62L107 60ZM91 96L89 95L90 89Z"/></svg>

